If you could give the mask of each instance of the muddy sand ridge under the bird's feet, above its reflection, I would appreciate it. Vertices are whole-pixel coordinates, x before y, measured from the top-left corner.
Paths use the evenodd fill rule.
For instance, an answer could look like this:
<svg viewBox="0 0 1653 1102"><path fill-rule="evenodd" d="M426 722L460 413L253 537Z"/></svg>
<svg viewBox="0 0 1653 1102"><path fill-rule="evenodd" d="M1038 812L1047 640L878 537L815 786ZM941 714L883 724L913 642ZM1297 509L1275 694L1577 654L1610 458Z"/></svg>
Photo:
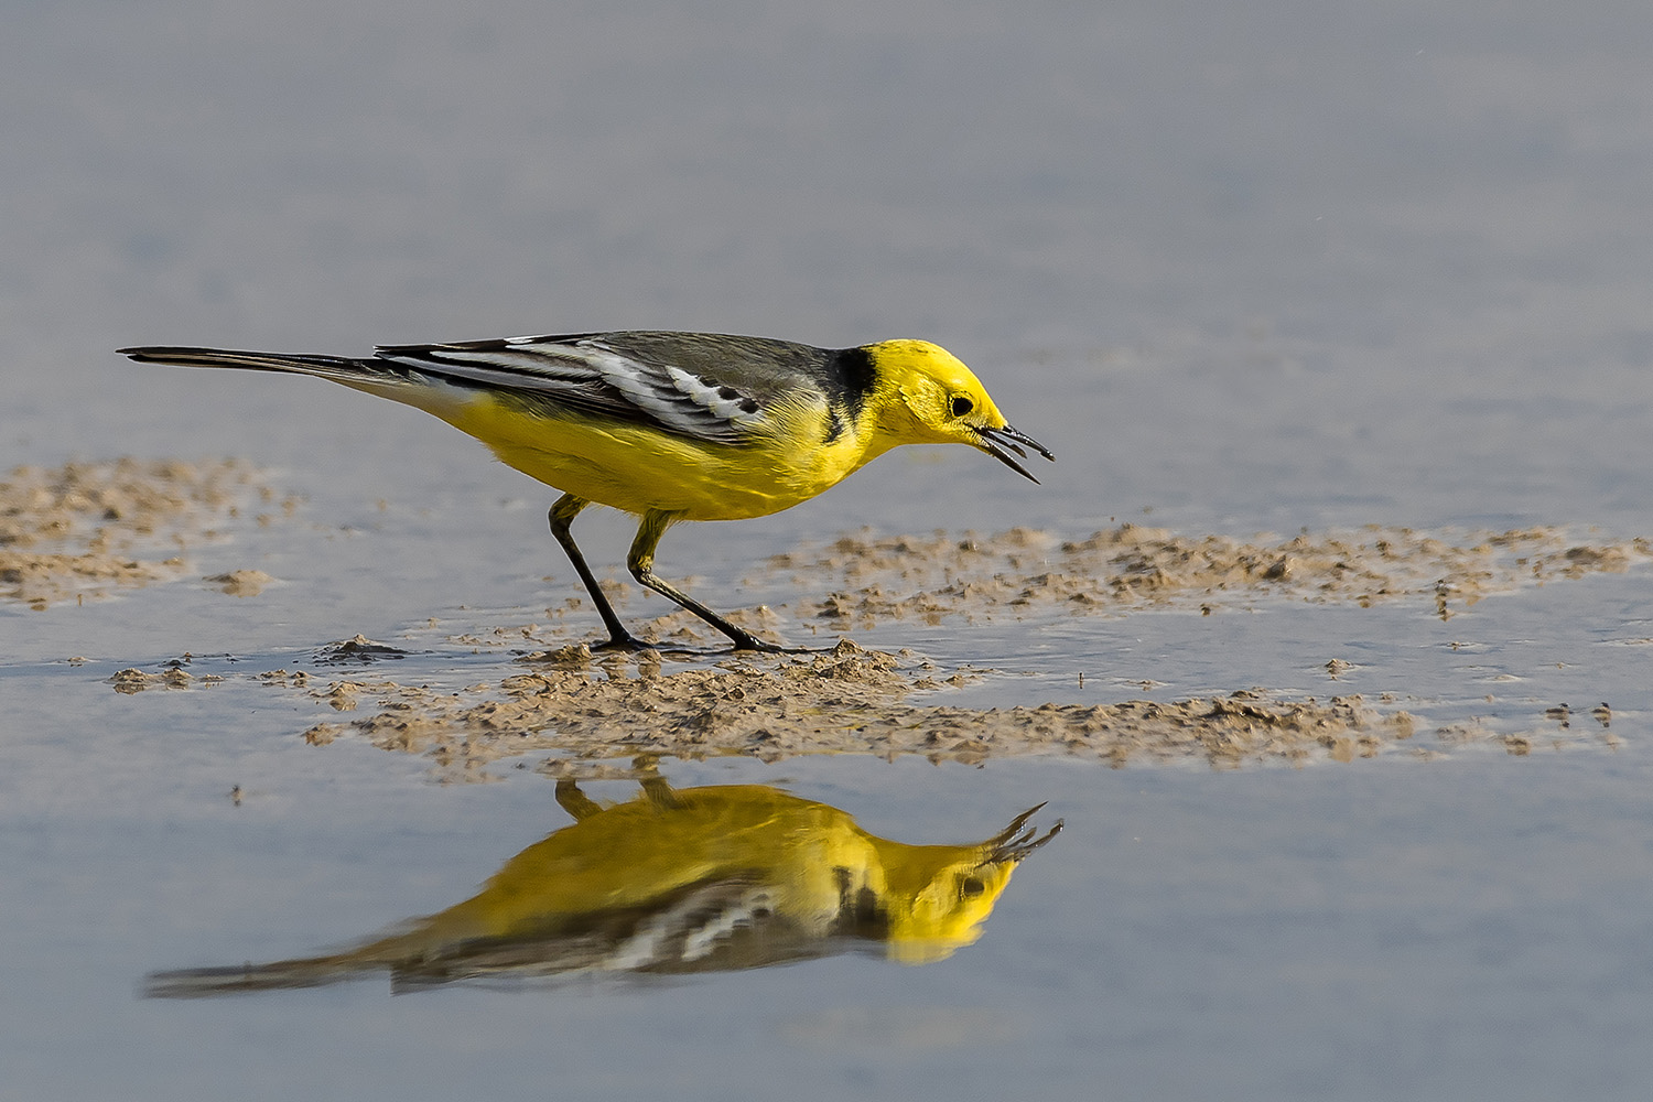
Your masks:
<svg viewBox="0 0 1653 1102"><path fill-rule="evenodd" d="M1349 762L1397 750L1436 757L1471 743L1516 755L1546 742L1557 748L1613 743L1602 719L1605 705L1592 712L1600 732L1567 732L1565 725L1508 732L1478 724L1425 730L1393 699L1288 697L1268 689L1008 709L926 704L916 697L942 682L924 671L922 659L866 651L848 639L813 656L741 658L676 672L668 672L658 654L593 659L585 648L527 666L531 672L498 686L460 692L383 679L271 677L341 714L372 709L316 724L304 732L306 742L365 739L385 750L428 755L443 780L486 778L494 762L539 753L550 755L537 767L544 772L590 777L592 763L630 755L775 762L805 753L873 753L967 765L1060 755L1111 767L1198 762L1235 768ZM622 768L615 775L628 773Z"/></svg>

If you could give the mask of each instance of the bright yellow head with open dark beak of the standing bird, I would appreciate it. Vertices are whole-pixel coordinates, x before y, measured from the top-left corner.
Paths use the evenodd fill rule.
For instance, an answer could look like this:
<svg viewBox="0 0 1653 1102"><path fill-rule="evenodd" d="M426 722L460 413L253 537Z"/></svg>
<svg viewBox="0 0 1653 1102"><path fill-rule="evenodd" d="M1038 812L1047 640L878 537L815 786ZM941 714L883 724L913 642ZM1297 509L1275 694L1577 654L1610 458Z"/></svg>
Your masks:
<svg viewBox="0 0 1653 1102"><path fill-rule="evenodd" d="M886 400L878 431L884 446L970 444L1018 474L1038 481L1013 456L1023 446L1055 459L1045 444L1010 428L982 380L955 355L927 340L884 340L866 345Z"/></svg>

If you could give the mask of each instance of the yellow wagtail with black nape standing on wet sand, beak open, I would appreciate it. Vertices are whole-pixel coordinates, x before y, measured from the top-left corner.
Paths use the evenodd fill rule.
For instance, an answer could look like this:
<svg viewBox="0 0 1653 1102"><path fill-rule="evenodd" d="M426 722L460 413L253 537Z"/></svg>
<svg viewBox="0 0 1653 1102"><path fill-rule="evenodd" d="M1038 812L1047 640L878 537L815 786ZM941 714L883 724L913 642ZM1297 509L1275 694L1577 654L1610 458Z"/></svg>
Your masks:
<svg viewBox="0 0 1653 1102"><path fill-rule="evenodd" d="M570 525L590 504L638 517L626 568L729 638L737 628L655 573L679 520L746 520L790 509L899 444L969 444L1038 482L1020 459L1056 456L1005 421L957 357L927 340L822 349L706 332L615 330L379 345L370 357L145 345L141 363L314 375L402 401L483 441L562 496L550 532L590 593L608 639L640 651L597 585Z"/></svg>

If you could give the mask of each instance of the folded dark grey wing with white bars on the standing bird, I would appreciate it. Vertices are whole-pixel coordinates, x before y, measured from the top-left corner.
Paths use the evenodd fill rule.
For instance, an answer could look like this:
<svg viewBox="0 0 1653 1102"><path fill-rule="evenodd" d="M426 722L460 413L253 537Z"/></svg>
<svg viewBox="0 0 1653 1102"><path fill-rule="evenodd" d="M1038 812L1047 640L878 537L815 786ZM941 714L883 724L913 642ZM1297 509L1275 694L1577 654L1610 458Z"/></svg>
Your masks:
<svg viewBox="0 0 1653 1102"><path fill-rule="evenodd" d="M574 334L382 345L375 355L461 385L498 388L531 408L597 413L693 439L746 443L765 425L765 406L802 378L765 372L737 354L741 363L731 377L739 377L739 385L724 382L719 349L717 339L701 334Z"/></svg>

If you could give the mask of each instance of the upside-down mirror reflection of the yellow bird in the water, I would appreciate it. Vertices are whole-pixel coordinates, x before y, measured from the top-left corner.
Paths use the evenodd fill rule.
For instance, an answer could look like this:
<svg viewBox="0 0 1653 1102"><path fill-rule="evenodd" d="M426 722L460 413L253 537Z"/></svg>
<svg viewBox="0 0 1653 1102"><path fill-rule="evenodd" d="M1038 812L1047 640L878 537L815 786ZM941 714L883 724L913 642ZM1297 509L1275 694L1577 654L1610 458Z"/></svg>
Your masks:
<svg viewBox="0 0 1653 1102"><path fill-rule="evenodd" d="M157 971L152 998L317 986L374 971L393 991L461 980L764 968L848 950L942 960L982 935L1017 864L1061 829L1023 811L987 841L909 846L765 785L676 790L660 777L603 806L570 780L574 823L483 891L326 957Z"/></svg>

